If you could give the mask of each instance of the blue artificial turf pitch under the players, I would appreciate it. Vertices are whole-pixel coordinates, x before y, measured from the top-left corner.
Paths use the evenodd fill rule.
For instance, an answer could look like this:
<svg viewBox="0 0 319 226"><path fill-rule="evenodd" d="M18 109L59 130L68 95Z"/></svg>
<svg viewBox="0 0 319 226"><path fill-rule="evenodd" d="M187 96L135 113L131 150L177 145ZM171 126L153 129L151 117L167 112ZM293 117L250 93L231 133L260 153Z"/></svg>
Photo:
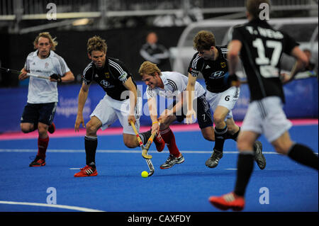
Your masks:
<svg viewBox="0 0 319 226"><path fill-rule="evenodd" d="M318 125L294 126L291 137L318 153ZM51 138L47 165L31 168L36 154L36 140L0 141L0 200L46 203L47 188L57 191L57 204L111 212L211 212L219 211L209 196L233 190L236 179L237 153L235 142L225 142L223 159L215 169L205 166L213 142L203 140L201 132L175 132L177 145L185 151L185 162L171 169L159 169L168 157L167 151L152 153L155 174L142 178L148 170L140 152L99 152L99 150L135 150L123 145L121 135L99 137L96 165L98 176L74 178L85 164L84 138ZM260 137L267 152L267 167L255 164L246 193L248 212L317 212L318 171L274 154L274 149ZM5 149L34 149L34 152L6 152ZM50 152L60 149L61 152ZM67 152L69 149L79 152ZM151 147L155 150L154 145ZM167 148L165 148L167 150ZM194 152L189 152L194 151ZM205 153L196 151L206 151ZM231 152L231 153L230 153ZM269 153L268 153L269 152ZM269 191L269 204L259 203L260 188ZM28 205L0 204L0 211L72 211Z"/></svg>

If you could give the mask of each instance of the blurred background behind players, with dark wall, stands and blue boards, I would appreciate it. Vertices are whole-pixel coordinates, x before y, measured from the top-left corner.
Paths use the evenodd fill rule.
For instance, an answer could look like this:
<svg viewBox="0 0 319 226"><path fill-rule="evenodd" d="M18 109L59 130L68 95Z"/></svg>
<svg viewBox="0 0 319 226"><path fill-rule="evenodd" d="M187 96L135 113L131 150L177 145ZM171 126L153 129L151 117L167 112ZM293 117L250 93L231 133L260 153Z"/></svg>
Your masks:
<svg viewBox="0 0 319 226"><path fill-rule="evenodd" d="M285 111L290 118L318 118L318 0L273 0L272 4L270 18L286 21L284 25L277 24L278 29L313 51L311 61L315 65L313 70L300 75L301 81L285 88L291 101ZM62 128L72 128L81 75L89 63L88 38L99 35L105 39L107 55L122 60L141 89L145 89L138 68L143 62L140 49L147 33L157 33L158 42L167 47L172 70L186 74L195 53L191 46L194 33L211 30L218 37L218 45L225 44L232 24L237 23L235 20L245 20L244 0L0 0L0 65L21 69L28 53L33 52L33 40L38 33L49 31L56 37L59 43L56 52L66 60L76 78L72 84L59 85L60 112L57 111L55 120ZM221 23L225 24L223 28ZM289 58L283 62L287 68L294 63ZM203 83L201 78L198 80ZM28 79L18 81L16 75L0 72L0 104L6 106L0 110L0 132L19 130L27 86ZM103 96L100 87L92 88L88 114ZM249 101L247 88L244 86L242 90L234 112L237 120L245 115ZM149 123L147 117L141 120L145 125Z"/></svg>

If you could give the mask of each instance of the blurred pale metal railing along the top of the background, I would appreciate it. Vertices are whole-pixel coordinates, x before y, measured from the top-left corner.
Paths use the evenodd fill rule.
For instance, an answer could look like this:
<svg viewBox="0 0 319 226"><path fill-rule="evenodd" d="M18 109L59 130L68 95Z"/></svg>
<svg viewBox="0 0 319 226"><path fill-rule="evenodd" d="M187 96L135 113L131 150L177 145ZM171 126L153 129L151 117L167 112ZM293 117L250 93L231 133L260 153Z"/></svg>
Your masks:
<svg viewBox="0 0 319 226"><path fill-rule="evenodd" d="M57 18L100 17L103 11L111 17L174 14L194 8L200 9L202 13L245 10L243 0L0 0L0 21L13 21L18 15L22 15L22 20L45 19L47 5L50 3L57 6ZM318 9L318 2L314 0L276 0L273 4L273 10Z"/></svg>

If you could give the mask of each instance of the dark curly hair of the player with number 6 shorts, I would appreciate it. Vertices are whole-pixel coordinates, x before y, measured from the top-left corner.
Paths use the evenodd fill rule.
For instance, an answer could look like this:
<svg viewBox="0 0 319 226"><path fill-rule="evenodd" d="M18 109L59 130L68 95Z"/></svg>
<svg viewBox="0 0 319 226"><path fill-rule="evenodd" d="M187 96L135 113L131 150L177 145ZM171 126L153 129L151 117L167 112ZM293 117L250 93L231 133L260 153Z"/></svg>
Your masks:
<svg viewBox="0 0 319 226"><path fill-rule="evenodd" d="M199 31L193 39L194 50L209 50L212 46L216 46L215 35L208 30Z"/></svg>

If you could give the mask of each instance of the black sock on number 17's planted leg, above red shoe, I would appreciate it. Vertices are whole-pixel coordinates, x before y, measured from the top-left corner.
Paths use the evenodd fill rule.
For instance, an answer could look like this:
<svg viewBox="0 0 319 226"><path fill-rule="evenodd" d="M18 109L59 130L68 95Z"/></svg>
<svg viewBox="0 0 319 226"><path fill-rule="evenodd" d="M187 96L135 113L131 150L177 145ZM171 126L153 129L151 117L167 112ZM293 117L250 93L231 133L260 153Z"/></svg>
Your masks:
<svg viewBox="0 0 319 226"><path fill-rule="evenodd" d="M254 152L240 152L237 160L237 179L234 193L244 196L250 176L254 170Z"/></svg>

